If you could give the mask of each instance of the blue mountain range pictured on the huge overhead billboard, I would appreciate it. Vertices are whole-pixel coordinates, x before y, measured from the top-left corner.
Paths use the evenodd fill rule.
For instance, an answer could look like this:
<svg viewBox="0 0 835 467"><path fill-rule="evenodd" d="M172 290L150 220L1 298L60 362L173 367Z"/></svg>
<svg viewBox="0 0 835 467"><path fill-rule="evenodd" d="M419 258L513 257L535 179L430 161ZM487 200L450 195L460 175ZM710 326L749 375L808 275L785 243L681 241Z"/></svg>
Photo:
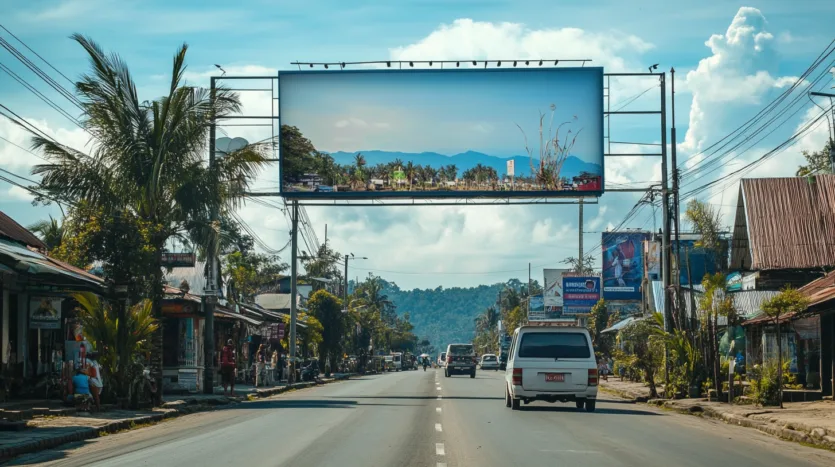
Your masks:
<svg viewBox="0 0 835 467"><path fill-rule="evenodd" d="M529 156L513 156L513 157L497 157L484 154L476 151L467 151L459 154L447 156L437 152L395 152L395 151L356 151L345 152L337 151L330 153L334 161L342 165L349 165L354 163L354 156L357 153L362 153L365 156L366 164L373 166L376 164L387 164L395 159L400 159L404 163L412 161L414 164L429 165L432 167L441 167L448 164L455 164L460 175L467 169L471 169L478 164L487 167L492 167L499 175L505 175L507 172L507 161L513 159L516 166L515 175L530 175L531 159ZM533 160L534 167L539 164L539 159ZM582 172L589 172L592 174L603 174L603 169L599 164L584 162L577 157L568 156L563 163L561 174L565 177L574 177L580 175Z"/></svg>

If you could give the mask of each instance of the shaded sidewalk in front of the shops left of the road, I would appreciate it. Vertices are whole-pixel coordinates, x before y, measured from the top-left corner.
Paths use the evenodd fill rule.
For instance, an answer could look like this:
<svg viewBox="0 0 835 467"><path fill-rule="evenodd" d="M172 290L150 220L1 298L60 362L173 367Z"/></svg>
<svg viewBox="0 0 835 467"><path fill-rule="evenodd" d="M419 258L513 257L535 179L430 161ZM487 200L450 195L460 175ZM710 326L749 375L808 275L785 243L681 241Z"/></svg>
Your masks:
<svg viewBox="0 0 835 467"><path fill-rule="evenodd" d="M320 379L318 384L348 379L352 375L334 374L331 378ZM212 410L217 406L238 403L249 398L270 397L315 385L317 385L316 382L292 385L285 383L280 386L257 389L252 386L240 388L236 386L233 397L223 396L222 388L214 395L164 395L163 405L150 411L105 410L83 414L76 413L75 409L68 409L57 414L39 410L37 407L47 405L44 401L18 401L14 403L15 411L26 416L13 422L0 420L0 433L2 433L0 434L0 462L21 454L50 449L69 442L98 438L109 433L157 423L167 418ZM27 404L29 407L26 407ZM0 419L2 418L4 417L0 416Z"/></svg>

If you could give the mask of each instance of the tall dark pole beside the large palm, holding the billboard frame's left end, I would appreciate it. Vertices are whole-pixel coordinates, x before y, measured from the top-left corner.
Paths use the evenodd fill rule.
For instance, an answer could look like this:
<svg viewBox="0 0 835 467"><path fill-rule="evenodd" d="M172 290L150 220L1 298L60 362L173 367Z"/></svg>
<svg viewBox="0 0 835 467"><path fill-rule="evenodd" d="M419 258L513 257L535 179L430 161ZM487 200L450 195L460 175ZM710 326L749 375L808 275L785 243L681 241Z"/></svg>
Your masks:
<svg viewBox="0 0 835 467"><path fill-rule="evenodd" d="M215 151L216 151L216 142L215 137L217 136L217 126L215 122L215 115L214 115L214 108L215 108L215 91L217 88L217 77L212 76L209 79L210 84L210 95L209 98L211 99L212 105L212 118L209 122L209 167L213 167L215 164ZM217 208L212 207L212 211L210 213L211 228L209 229L212 232L212 235L215 233L214 227L215 223L217 222ZM218 271L217 271L217 255L216 247L217 247L217 239L210 240L208 245L208 251L206 255L206 261L209 263L208 268L208 277L206 278L206 285L207 290L203 291L205 298L203 303L205 304L205 315L206 315L206 324L203 325L203 351L204 351L204 361L203 361L203 393L204 394L214 394L215 391L215 304L217 303L217 293L218 293Z"/></svg>

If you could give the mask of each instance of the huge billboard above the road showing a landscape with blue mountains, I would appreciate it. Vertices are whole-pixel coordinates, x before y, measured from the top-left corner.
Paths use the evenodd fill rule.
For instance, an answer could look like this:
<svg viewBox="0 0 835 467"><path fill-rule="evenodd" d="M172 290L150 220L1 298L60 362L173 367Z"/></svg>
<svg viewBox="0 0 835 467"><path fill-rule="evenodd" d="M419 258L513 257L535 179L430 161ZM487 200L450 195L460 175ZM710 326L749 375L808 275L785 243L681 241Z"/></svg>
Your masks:
<svg viewBox="0 0 835 467"><path fill-rule="evenodd" d="M279 95L286 198L603 191L599 67L282 71Z"/></svg>

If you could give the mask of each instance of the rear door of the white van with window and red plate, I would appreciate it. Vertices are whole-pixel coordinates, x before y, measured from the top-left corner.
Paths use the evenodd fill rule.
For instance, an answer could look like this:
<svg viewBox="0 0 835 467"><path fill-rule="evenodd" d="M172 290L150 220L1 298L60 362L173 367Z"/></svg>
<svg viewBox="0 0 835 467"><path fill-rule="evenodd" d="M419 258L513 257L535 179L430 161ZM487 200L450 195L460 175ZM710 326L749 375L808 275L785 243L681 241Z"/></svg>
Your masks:
<svg viewBox="0 0 835 467"><path fill-rule="evenodd" d="M578 330L528 331L519 337L514 368L522 368L526 391L578 392L595 368L588 335Z"/></svg>

